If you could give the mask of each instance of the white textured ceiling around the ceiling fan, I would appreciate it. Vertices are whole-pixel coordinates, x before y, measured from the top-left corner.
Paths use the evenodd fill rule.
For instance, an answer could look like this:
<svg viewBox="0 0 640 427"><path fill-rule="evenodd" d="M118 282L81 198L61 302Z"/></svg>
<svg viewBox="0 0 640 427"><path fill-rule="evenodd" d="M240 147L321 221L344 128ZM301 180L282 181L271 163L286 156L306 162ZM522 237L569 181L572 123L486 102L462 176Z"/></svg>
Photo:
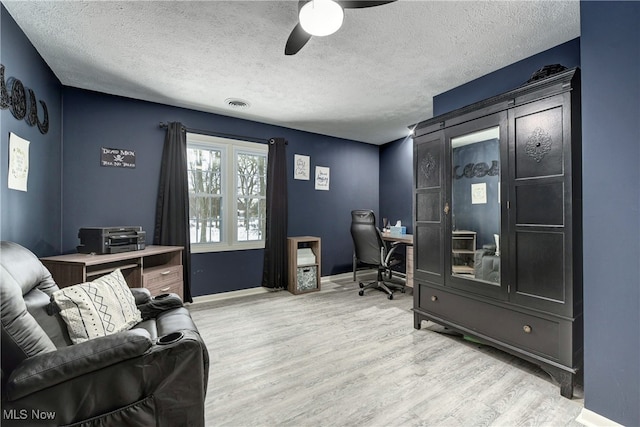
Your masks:
<svg viewBox="0 0 640 427"><path fill-rule="evenodd" d="M577 0L399 0L347 9L285 56L296 1L2 3L64 85L372 144L432 117L434 95L580 35Z"/></svg>

